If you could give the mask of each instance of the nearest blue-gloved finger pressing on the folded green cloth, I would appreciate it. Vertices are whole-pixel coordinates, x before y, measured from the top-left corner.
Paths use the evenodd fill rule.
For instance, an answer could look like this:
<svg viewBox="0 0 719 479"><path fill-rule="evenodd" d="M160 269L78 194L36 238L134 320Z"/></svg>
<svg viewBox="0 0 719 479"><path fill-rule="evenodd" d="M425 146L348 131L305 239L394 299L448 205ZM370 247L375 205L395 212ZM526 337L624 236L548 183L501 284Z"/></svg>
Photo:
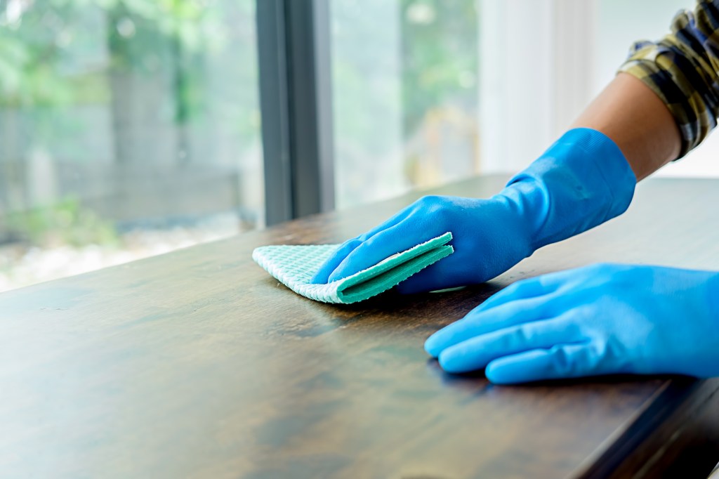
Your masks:
<svg viewBox="0 0 719 479"><path fill-rule="evenodd" d="M408 250L436 236L429 228L416 223L409 216L405 221L366 239L339 263L329 275L329 280L347 278L347 276L370 268L398 252Z"/></svg>

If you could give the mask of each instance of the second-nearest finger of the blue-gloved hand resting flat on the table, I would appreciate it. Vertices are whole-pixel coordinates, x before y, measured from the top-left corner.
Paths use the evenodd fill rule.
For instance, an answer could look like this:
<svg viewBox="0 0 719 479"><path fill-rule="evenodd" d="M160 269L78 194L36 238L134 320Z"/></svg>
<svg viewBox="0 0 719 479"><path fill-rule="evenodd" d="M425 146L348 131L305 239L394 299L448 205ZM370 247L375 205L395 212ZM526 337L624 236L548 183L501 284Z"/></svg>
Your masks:
<svg viewBox="0 0 719 479"><path fill-rule="evenodd" d="M582 342L580 329L559 318L519 324L480 334L439 353L439 365L448 373L482 369L500 357Z"/></svg>

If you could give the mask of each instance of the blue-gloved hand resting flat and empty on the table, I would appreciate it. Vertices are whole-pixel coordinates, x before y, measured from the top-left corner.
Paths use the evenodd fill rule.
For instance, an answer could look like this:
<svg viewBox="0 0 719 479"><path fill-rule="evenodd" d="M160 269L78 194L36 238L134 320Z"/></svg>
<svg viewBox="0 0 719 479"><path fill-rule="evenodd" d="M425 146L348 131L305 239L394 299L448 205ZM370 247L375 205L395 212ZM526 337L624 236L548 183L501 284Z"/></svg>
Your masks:
<svg viewBox="0 0 719 479"><path fill-rule="evenodd" d="M427 339L493 383L610 373L719 375L719 273L592 265L521 280Z"/></svg>

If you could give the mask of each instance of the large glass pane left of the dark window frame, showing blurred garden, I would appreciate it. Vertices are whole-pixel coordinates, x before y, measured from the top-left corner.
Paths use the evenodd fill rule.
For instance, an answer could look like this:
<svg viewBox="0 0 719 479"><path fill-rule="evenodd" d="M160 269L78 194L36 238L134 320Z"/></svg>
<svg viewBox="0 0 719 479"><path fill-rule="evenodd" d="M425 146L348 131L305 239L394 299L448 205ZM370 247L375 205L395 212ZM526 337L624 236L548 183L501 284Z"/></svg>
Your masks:
<svg viewBox="0 0 719 479"><path fill-rule="evenodd" d="M0 291L262 217L255 2L0 1Z"/></svg>

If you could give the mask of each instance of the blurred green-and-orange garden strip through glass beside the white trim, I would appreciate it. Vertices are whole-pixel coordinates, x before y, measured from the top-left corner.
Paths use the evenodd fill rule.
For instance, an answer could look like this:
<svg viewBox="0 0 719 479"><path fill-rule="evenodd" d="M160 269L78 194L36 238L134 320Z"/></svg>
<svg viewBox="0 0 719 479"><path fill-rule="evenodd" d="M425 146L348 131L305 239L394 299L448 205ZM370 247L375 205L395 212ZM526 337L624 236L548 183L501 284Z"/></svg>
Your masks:
<svg viewBox="0 0 719 479"><path fill-rule="evenodd" d="M476 173L477 1L402 0L404 167L414 186Z"/></svg>

